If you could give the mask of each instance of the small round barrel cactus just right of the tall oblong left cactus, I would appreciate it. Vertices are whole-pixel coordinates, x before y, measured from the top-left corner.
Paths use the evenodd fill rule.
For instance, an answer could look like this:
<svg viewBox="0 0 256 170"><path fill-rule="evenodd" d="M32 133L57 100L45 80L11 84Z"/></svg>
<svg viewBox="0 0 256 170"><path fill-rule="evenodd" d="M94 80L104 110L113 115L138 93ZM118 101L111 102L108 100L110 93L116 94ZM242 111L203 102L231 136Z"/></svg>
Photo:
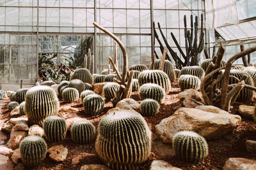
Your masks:
<svg viewBox="0 0 256 170"><path fill-rule="evenodd" d="M72 103L73 101L78 101L79 92L75 88L68 87L63 90L62 99L65 103Z"/></svg>

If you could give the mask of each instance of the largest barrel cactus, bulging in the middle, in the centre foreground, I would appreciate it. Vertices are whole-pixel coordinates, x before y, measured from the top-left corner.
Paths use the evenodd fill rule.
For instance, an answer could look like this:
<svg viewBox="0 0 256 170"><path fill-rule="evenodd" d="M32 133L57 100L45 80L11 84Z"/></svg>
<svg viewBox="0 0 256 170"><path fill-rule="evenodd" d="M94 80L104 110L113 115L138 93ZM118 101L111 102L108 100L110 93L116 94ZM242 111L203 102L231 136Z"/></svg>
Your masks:
<svg viewBox="0 0 256 170"><path fill-rule="evenodd" d="M129 169L148 159L151 132L136 111L111 112L100 120L95 150L100 159L118 169Z"/></svg>

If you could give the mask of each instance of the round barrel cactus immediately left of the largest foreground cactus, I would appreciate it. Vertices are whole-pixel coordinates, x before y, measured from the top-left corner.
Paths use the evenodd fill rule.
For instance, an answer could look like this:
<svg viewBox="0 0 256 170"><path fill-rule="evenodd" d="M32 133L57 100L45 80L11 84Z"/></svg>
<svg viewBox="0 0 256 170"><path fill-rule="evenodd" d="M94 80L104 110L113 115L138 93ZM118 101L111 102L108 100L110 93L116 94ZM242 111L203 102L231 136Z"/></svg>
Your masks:
<svg viewBox="0 0 256 170"><path fill-rule="evenodd" d="M87 144L95 138L95 127L88 120L74 122L71 127L71 138L75 143Z"/></svg>

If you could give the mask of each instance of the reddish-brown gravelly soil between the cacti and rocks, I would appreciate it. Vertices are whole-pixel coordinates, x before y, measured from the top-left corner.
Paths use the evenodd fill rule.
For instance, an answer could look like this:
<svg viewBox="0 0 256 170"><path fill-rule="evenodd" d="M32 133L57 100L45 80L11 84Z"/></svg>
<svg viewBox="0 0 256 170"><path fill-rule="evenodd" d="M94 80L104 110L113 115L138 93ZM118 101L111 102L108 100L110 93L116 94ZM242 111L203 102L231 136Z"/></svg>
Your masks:
<svg viewBox="0 0 256 170"><path fill-rule="evenodd" d="M248 153L245 147L246 139L256 140L256 124L252 120L242 119L241 124L232 132L232 134L228 134L227 136L223 136L223 138L218 140L209 140L207 141L209 145L209 156L207 159L200 164L188 164L186 162L182 162L175 158L173 153L172 145L168 143L163 143L155 133L155 126L163 120L163 118L170 117L179 107L179 99L177 99L177 95L179 94L180 89L177 87L177 82L172 83L172 90L166 95L166 99L161 104L161 108L159 113L154 117L145 117L145 120L148 123L148 126L152 130L152 153L149 159L141 164L140 169L149 169L149 166L152 160L161 159L170 162L172 166L180 167L181 169L222 169L225 161L229 157L243 157L247 159L256 159L255 155L252 153ZM140 103L140 99L138 97L138 92L134 92L132 94L132 99L135 99ZM5 99L7 100L7 99ZM245 103L246 105L253 105L256 103L256 93L253 98L253 101L250 103ZM237 108L241 103L235 103L234 107L230 111L232 114L237 114ZM104 111L97 116L86 115L83 112L83 106L81 104L81 100L65 104L62 100L60 100L61 106L70 105L74 108L77 108L78 113L60 113L61 117L71 118L71 117L82 117L90 120L93 125L97 126L99 124L100 118L104 117L106 112L113 108L111 102L106 103L104 106ZM7 111L7 103L2 106L1 120L2 122L6 122L10 116L10 112ZM1 121L0 121L1 122ZM104 164L102 160L99 159L94 149L94 142L90 143L90 145L77 145L70 138L70 132L68 132L65 140L60 141L58 143L49 143L47 142L48 148L54 145L63 145L68 148L67 159L63 162L54 162L53 160L46 157L44 164L40 164L39 166L33 167L31 169L80 169L84 164ZM82 159L79 164L72 165L72 159L81 155ZM28 168L29 169L29 168Z"/></svg>

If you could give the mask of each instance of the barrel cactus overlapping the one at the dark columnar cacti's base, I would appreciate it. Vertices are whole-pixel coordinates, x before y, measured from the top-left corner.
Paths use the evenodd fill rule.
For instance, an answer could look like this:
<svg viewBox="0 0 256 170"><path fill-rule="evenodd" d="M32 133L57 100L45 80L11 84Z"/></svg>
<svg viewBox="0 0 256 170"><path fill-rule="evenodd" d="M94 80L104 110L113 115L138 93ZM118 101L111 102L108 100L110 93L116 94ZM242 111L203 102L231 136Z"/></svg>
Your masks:
<svg viewBox="0 0 256 170"><path fill-rule="evenodd" d="M200 88L201 81L197 76L192 76L188 74L181 75L178 80L178 85L181 90L185 89L195 89L198 90Z"/></svg>

